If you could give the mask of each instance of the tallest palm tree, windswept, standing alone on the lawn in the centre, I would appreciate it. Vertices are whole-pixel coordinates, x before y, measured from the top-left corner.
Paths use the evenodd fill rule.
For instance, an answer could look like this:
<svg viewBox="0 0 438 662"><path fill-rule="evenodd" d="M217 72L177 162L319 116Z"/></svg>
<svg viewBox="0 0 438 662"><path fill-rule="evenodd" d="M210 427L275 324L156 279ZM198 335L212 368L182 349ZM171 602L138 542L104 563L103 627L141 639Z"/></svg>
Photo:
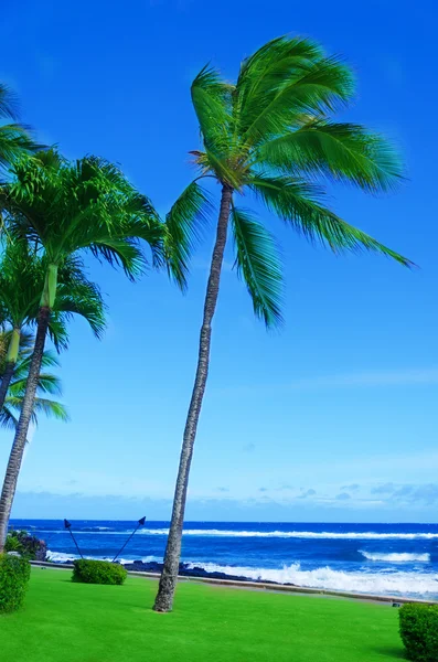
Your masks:
<svg viewBox="0 0 438 662"><path fill-rule="evenodd" d="M191 88L202 150L191 152L199 168L168 215L181 237L175 246L184 280L190 250L209 211L200 180L213 178L221 203L206 288L196 375L183 435L157 611L172 608L193 445L207 380L211 324L216 308L228 221L235 266L267 327L281 321L281 265L273 236L238 201L254 196L292 229L335 253L361 249L409 261L349 225L324 204L316 179L351 182L364 191L387 191L402 178L391 145L359 125L332 119L354 95L351 70L306 39L282 36L245 60L235 84L204 67ZM246 205L245 205L246 206ZM169 255L171 263L172 255Z"/></svg>

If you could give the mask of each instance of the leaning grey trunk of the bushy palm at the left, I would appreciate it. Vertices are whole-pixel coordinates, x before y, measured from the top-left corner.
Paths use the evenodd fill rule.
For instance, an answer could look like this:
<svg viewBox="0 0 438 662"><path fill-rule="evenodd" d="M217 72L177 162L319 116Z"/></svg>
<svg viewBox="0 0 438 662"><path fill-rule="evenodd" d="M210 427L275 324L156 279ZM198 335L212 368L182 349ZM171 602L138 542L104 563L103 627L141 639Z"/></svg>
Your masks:
<svg viewBox="0 0 438 662"><path fill-rule="evenodd" d="M17 482L20 474L25 441L28 438L29 425L32 417L33 403L35 399L36 387L41 372L41 363L44 353L49 319L50 308L40 308L35 345L33 348L32 361L29 369L25 394L21 407L20 419L15 430L15 437L13 440L11 455L9 456L3 489L1 491L0 498L0 552L2 552L3 549L4 541L8 534L9 517L11 515L13 498L15 495Z"/></svg>

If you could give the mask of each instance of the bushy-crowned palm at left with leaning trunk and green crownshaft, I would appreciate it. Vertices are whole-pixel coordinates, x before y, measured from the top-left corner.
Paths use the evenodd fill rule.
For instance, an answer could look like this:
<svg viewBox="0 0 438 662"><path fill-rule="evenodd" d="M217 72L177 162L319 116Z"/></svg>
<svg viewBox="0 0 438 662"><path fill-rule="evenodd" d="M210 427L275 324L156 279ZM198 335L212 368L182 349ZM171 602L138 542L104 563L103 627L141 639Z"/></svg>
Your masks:
<svg viewBox="0 0 438 662"><path fill-rule="evenodd" d="M14 239L25 238L46 263L39 301L36 337L25 394L0 498L0 551L17 488L45 339L56 295L67 260L82 269L86 253L121 266L135 279L142 273L146 256L141 241L160 260L162 224L149 200L140 195L120 170L96 157L75 162L55 150L22 158L12 170L12 182L3 186L0 204L4 227Z"/></svg>

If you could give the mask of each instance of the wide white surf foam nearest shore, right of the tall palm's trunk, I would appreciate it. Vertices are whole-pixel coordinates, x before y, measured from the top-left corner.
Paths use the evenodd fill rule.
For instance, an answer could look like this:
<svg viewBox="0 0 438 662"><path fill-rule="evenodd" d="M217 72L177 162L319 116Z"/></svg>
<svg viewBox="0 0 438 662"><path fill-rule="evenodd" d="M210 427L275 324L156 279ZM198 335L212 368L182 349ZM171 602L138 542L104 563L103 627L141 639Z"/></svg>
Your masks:
<svg viewBox="0 0 438 662"><path fill-rule="evenodd" d="M222 566L214 563L191 563L190 567L201 567L209 573L239 575L248 579L296 584L307 588L325 588L364 594L387 595L438 595L438 574L420 573L344 573L329 567L301 570L300 564L284 566L281 569L247 568Z"/></svg>

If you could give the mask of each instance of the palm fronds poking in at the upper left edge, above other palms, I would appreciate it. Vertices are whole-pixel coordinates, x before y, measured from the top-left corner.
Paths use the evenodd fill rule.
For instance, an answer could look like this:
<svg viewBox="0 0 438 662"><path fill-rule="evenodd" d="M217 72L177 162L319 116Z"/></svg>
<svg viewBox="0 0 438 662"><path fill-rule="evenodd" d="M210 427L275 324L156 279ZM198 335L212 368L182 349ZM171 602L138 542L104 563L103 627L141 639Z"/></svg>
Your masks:
<svg viewBox="0 0 438 662"><path fill-rule="evenodd" d="M23 152L31 152L35 143L29 129L17 122L18 104L11 89L0 83L0 169L9 168Z"/></svg>

